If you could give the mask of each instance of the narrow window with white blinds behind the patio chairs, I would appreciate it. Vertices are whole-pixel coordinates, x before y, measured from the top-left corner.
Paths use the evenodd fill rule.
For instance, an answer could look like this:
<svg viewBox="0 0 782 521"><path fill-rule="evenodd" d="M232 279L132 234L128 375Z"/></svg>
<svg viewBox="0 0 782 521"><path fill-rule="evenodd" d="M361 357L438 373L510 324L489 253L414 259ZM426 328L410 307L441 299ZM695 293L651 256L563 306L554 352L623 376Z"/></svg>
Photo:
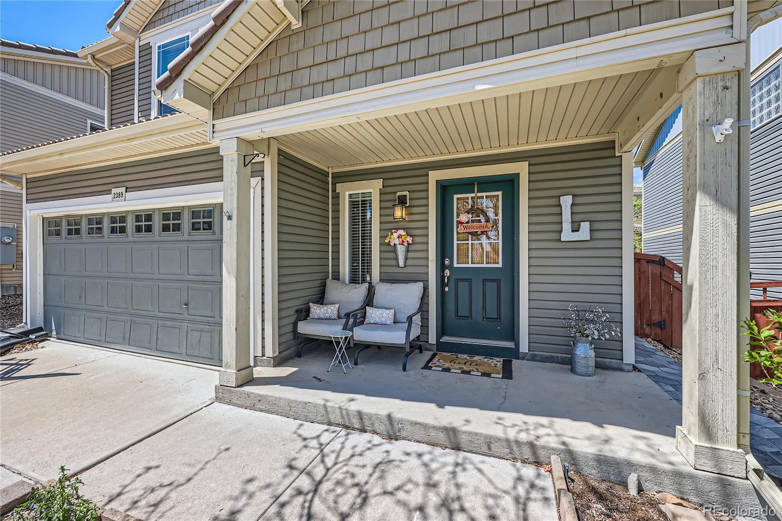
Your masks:
<svg viewBox="0 0 782 521"><path fill-rule="evenodd" d="M372 275L372 192L348 195L348 282L368 282Z"/></svg>

